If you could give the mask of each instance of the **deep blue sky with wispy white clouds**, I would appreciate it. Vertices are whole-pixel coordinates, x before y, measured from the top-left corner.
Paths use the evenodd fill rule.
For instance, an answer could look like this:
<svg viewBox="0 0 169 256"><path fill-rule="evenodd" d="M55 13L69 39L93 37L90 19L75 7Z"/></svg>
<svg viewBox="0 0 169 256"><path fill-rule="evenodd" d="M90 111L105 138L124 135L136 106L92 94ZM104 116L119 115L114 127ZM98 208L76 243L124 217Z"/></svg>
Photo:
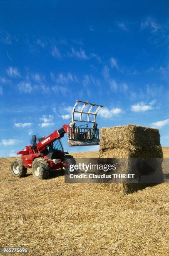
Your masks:
<svg viewBox="0 0 169 256"><path fill-rule="evenodd" d="M0 1L0 156L68 124L76 100L105 106L99 127L157 127L169 146L168 13L164 0Z"/></svg>

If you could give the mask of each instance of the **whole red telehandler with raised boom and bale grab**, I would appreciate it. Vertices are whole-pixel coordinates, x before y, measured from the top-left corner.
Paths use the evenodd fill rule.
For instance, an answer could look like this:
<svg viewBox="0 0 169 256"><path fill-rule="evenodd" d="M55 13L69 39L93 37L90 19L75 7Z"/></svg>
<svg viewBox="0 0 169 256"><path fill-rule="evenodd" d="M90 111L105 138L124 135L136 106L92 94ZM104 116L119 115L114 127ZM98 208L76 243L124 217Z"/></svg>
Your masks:
<svg viewBox="0 0 169 256"><path fill-rule="evenodd" d="M80 103L80 104L79 104ZM83 104L82 104L83 103ZM79 104L79 105L78 105ZM88 111L85 107L90 105ZM96 107L94 113L92 108ZM69 125L63 125L59 130L55 130L49 136L37 138L32 136L32 145L25 146L18 155L21 159L15 159L12 164L12 172L15 177L23 177L27 168L32 168L32 174L37 179L46 179L50 170L65 169L75 160L72 156L64 152L61 138L67 133L69 146L91 146L99 145L99 129L97 128L97 112L104 106L77 100L72 110L72 120ZM77 116L78 115L78 116ZM87 116L85 120L84 115ZM93 116L94 120L90 120ZM76 126L75 122L92 123L92 128L88 124Z"/></svg>

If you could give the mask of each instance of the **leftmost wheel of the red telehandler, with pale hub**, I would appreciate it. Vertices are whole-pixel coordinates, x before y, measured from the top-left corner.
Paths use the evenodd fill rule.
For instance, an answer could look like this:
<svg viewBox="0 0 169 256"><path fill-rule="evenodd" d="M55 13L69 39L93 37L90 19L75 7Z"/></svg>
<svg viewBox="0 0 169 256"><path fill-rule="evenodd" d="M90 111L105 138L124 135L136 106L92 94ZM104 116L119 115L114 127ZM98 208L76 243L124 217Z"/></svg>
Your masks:
<svg viewBox="0 0 169 256"><path fill-rule="evenodd" d="M27 173L27 168L24 167L22 159L15 159L11 164L11 169L15 177L21 178Z"/></svg>

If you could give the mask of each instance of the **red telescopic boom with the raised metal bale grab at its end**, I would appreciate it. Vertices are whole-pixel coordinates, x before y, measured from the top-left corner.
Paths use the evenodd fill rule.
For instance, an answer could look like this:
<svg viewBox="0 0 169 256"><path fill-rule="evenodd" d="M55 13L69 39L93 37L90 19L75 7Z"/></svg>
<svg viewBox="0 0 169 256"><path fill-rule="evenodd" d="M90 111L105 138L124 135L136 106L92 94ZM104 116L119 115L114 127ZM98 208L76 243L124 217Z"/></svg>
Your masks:
<svg viewBox="0 0 169 256"><path fill-rule="evenodd" d="M88 111L85 110L87 105L90 105ZM96 107L94 112L92 112L93 107ZM62 138L65 133L67 133L69 146L99 145L99 129L97 128L96 117L99 109L103 107L102 105L77 100L72 109L72 120L69 125L63 125L59 130L55 130L49 136L42 138L38 143L33 142L33 146L26 146L17 154L42 154L48 145ZM87 118L84 115L87 115ZM92 123L92 128L89 128L88 125L86 127L84 125L76 126L75 122Z"/></svg>

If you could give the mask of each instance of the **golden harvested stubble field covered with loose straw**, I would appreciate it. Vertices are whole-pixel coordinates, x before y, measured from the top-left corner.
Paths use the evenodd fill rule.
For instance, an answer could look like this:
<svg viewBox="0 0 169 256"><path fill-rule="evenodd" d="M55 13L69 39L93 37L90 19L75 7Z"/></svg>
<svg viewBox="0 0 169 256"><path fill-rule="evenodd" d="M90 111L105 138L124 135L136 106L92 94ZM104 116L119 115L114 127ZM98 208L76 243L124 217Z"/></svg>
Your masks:
<svg viewBox="0 0 169 256"><path fill-rule="evenodd" d="M163 154L169 158L169 148ZM0 159L0 247L28 247L28 255L169 254L169 184L121 195L65 184L59 172L48 180L34 179L31 170L15 178L12 160Z"/></svg>

